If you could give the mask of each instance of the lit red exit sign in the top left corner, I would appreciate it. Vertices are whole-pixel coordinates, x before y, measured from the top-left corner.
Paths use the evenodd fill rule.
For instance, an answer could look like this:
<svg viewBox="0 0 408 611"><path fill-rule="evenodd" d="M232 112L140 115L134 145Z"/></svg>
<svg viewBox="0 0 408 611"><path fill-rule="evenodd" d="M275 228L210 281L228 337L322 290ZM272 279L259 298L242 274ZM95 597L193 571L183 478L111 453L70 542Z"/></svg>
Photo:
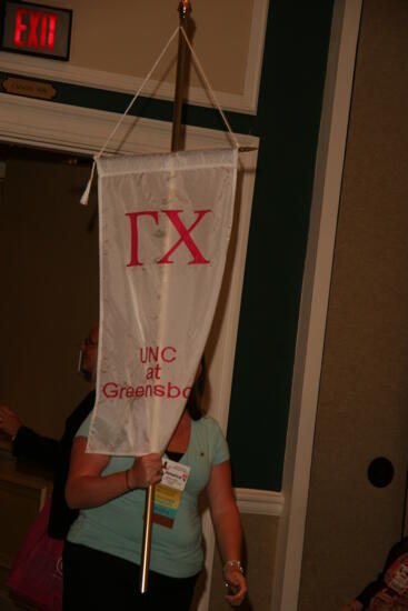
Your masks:
<svg viewBox="0 0 408 611"><path fill-rule="evenodd" d="M3 2L1 50L67 61L72 11L31 2Z"/></svg>

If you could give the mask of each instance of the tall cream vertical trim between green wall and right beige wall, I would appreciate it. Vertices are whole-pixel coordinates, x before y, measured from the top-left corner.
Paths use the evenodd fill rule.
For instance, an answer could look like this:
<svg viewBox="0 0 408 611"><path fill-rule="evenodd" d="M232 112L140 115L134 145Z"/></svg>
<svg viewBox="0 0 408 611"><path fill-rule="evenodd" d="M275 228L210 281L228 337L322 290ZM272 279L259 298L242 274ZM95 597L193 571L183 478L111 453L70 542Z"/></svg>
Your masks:
<svg viewBox="0 0 408 611"><path fill-rule="evenodd" d="M271 611L296 611L312 445L362 0L336 0L315 170Z"/></svg>

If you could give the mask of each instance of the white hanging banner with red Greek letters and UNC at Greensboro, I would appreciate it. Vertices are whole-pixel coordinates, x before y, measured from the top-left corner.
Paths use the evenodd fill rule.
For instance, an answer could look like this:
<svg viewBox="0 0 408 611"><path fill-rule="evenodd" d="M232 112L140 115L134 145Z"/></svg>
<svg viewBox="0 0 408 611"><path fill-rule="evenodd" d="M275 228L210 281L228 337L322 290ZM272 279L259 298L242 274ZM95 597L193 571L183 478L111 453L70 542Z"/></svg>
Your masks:
<svg viewBox="0 0 408 611"><path fill-rule="evenodd" d="M99 159L100 330L88 451L162 453L221 287L238 151Z"/></svg>

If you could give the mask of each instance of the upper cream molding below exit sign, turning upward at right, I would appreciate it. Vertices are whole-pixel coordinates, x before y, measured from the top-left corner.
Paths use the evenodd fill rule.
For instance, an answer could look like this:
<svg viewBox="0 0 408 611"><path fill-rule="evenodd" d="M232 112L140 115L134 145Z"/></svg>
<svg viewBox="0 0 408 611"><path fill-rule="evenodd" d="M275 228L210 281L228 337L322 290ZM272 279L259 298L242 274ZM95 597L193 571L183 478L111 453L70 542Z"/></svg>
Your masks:
<svg viewBox="0 0 408 611"><path fill-rule="evenodd" d="M269 0L253 0L243 92L237 94L216 91L218 102L225 110L249 114L257 112L268 6ZM131 94L138 91L143 81L140 77L93 70L73 66L70 62L58 62L6 51L0 52L0 71ZM56 87L58 89L58 84ZM175 86L169 82L150 80L143 88L142 94L172 101ZM206 90L200 87L189 87L188 101L205 107L213 106Z"/></svg>

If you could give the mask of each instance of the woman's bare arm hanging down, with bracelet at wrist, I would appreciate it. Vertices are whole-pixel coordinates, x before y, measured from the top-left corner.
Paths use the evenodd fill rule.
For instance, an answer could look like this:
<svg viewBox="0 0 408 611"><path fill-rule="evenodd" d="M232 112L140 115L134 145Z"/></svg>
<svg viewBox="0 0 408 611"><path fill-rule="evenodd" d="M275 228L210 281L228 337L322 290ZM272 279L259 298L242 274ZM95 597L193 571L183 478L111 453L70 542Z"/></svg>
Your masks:
<svg viewBox="0 0 408 611"><path fill-rule="evenodd" d="M240 604L247 595L248 588L240 570L242 527L233 497L229 460L212 467L207 497L223 561L223 578L232 592L225 598L231 604Z"/></svg>

